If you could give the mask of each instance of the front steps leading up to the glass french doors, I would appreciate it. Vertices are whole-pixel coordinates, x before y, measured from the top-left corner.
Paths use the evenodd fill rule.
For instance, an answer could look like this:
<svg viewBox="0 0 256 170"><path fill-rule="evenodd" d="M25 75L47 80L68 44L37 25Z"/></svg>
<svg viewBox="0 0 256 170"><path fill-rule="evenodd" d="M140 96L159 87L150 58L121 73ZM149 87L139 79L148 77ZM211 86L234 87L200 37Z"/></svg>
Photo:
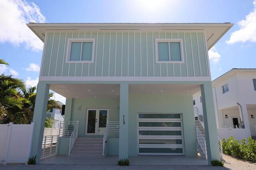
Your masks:
<svg viewBox="0 0 256 170"><path fill-rule="evenodd" d="M104 158L103 138L78 137L68 158Z"/></svg>

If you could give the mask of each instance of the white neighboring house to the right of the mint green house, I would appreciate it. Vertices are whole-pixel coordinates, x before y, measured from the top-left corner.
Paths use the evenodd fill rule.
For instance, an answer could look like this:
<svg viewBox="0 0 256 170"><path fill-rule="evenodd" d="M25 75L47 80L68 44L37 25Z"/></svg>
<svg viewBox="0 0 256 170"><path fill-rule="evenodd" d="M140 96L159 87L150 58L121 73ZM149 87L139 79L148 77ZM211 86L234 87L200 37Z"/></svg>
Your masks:
<svg viewBox="0 0 256 170"><path fill-rule="evenodd" d="M247 128L256 136L256 69L233 68L212 81L217 127ZM202 111L201 92L193 95Z"/></svg>

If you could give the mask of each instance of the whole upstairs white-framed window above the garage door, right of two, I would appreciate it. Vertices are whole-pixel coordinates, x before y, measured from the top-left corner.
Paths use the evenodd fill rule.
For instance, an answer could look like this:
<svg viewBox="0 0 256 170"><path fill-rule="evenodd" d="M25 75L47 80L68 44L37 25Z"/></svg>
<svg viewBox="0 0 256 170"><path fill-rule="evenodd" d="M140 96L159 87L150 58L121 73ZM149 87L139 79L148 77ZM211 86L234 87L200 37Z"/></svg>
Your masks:
<svg viewBox="0 0 256 170"><path fill-rule="evenodd" d="M156 63L184 63L182 39L156 38Z"/></svg>

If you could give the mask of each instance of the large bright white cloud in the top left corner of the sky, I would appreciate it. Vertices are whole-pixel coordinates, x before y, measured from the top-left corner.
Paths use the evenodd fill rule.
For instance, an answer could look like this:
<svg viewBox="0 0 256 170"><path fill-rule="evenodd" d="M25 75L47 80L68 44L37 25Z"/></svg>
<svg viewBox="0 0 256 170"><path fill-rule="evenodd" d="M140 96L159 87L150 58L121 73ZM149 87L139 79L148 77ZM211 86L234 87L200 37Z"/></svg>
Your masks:
<svg viewBox="0 0 256 170"><path fill-rule="evenodd" d="M0 43L9 42L34 51L43 49L42 41L27 27L28 22L45 23L39 7L26 0L0 0Z"/></svg>

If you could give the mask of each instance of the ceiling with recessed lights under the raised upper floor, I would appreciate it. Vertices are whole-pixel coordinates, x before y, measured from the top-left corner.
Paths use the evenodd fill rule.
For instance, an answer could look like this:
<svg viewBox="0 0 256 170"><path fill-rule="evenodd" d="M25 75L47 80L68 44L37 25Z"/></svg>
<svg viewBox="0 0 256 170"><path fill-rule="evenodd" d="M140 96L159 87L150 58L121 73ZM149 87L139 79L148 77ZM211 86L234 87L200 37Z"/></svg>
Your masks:
<svg viewBox="0 0 256 170"><path fill-rule="evenodd" d="M66 98L119 98L120 84L51 84L50 89ZM129 94L192 95L199 84L130 84Z"/></svg>

